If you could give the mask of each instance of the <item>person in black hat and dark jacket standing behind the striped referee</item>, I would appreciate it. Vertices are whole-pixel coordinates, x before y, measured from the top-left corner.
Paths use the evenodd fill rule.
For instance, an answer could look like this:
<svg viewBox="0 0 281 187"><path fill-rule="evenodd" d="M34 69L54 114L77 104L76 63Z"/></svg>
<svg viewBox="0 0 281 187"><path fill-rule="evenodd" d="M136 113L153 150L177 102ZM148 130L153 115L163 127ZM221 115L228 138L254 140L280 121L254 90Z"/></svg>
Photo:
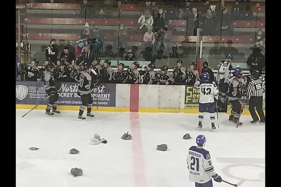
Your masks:
<svg viewBox="0 0 281 187"><path fill-rule="evenodd" d="M261 54L261 49L259 47L254 46L252 50L253 53L250 54L247 60L247 64L251 66L250 72L253 72L253 70L261 72L265 65L265 56Z"/></svg>

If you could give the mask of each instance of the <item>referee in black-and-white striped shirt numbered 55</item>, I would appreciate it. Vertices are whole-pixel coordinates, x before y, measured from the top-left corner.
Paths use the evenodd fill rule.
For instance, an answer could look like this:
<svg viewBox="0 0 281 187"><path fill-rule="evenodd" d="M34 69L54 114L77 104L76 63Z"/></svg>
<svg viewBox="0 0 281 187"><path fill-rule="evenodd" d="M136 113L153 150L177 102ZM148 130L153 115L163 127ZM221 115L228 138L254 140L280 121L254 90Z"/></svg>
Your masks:
<svg viewBox="0 0 281 187"><path fill-rule="evenodd" d="M259 79L259 77L260 72L258 70L254 70L251 73L252 80L249 82L247 88L247 96L250 98L249 111L253 118L251 123L258 122L258 116L256 114L255 107L260 117L260 122L265 123L265 116L263 112L263 93L265 92L265 84L261 79Z"/></svg>

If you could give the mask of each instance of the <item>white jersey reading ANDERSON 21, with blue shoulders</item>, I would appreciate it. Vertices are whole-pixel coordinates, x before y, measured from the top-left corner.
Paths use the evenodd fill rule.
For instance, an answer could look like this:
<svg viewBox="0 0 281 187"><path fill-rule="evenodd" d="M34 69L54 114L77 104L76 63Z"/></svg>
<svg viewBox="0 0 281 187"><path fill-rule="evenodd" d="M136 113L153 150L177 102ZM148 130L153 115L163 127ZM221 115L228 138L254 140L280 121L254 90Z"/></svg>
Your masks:
<svg viewBox="0 0 281 187"><path fill-rule="evenodd" d="M192 146L187 154L187 168L189 170L189 181L206 183L216 174L209 151Z"/></svg>

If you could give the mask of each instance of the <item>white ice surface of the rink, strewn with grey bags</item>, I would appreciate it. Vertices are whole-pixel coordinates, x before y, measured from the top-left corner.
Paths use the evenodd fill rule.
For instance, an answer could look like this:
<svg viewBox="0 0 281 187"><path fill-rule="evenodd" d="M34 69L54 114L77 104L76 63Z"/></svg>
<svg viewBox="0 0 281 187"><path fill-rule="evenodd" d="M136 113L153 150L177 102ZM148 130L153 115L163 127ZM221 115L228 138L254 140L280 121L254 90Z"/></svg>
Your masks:
<svg viewBox="0 0 281 187"><path fill-rule="evenodd" d="M243 178L241 187L265 186L265 125L251 124L251 116L241 116L243 126L236 128L228 115L219 114L220 128L212 132L208 114L198 131L197 114L92 112L94 118L82 121L75 111L46 116L33 110L22 118L27 111L16 110L17 187L193 187L186 155L199 134L206 136L204 148L222 179ZM131 141L121 139L127 131ZM107 144L90 145L95 133ZM192 138L182 139L186 133ZM162 143L165 152L156 150ZM70 155L71 148L80 153ZM83 176L70 174L75 167Z"/></svg>

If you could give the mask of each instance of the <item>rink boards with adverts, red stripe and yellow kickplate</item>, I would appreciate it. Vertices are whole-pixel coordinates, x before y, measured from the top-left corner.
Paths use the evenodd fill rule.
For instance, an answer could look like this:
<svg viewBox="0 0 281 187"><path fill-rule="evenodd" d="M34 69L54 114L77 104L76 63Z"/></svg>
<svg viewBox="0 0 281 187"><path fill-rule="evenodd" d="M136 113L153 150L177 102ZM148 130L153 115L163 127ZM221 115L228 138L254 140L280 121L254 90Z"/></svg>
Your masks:
<svg viewBox="0 0 281 187"><path fill-rule="evenodd" d="M62 82L56 86L58 110L79 110L78 84ZM91 92L93 111L198 113L199 89L185 85L100 84ZM43 82L16 81L16 108L45 110L47 97ZM263 96L265 111L265 93ZM42 102L42 103L41 103ZM247 102L246 102L247 103ZM243 115L250 115L248 105ZM228 107L227 113L230 113Z"/></svg>

